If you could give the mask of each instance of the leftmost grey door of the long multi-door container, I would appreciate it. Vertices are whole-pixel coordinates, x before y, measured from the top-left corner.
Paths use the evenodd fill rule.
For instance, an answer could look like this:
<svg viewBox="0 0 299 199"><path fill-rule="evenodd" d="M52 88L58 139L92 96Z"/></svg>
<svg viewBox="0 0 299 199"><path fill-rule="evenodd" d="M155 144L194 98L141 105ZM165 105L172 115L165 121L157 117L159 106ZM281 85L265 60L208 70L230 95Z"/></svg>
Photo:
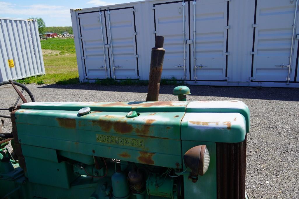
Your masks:
<svg viewBox="0 0 299 199"><path fill-rule="evenodd" d="M103 48L107 43L105 19L102 12L83 13L79 15L81 31L81 45L83 51L83 62L87 79L110 78L108 50ZM100 20L101 19L101 20ZM102 37L102 29L104 37ZM84 69L83 69L84 70Z"/></svg>

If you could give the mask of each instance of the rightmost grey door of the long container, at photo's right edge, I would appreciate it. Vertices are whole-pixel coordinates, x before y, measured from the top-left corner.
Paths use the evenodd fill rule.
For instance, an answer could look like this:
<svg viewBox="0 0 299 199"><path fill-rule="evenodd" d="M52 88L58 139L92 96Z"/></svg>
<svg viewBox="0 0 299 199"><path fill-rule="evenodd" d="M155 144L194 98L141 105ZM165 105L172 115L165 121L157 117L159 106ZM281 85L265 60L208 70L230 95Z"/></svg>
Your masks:
<svg viewBox="0 0 299 199"><path fill-rule="evenodd" d="M287 80L295 4L296 1L290 0L257 1L254 51L251 52L253 54L252 81ZM294 42L295 39L293 44ZM294 45L292 48L294 58L297 49L294 49ZM295 65L292 68L295 69Z"/></svg>

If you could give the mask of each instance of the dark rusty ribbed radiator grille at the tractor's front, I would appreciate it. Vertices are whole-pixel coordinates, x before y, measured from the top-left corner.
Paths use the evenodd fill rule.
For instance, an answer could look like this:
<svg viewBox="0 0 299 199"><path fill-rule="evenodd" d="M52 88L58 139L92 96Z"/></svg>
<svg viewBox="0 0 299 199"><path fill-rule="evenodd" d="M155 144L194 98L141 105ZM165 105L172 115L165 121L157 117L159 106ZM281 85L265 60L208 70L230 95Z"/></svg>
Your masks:
<svg viewBox="0 0 299 199"><path fill-rule="evenodd" d="M246 137L239 143L216 143L217 199L245 198Z"/></svg>

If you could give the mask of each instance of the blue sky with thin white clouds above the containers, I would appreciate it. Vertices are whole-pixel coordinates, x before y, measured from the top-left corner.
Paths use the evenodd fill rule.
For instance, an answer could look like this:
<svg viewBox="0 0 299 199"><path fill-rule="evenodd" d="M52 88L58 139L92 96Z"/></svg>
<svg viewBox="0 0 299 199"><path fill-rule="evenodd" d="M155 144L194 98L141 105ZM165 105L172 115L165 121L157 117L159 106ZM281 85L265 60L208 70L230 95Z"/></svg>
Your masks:
<svg viewBox="0 0 299 199"><path fill-rule="evenodd" d="M128 3L138 0L0 0L0 17L40 17L46 26L71 26L70 9Z"/></svg>

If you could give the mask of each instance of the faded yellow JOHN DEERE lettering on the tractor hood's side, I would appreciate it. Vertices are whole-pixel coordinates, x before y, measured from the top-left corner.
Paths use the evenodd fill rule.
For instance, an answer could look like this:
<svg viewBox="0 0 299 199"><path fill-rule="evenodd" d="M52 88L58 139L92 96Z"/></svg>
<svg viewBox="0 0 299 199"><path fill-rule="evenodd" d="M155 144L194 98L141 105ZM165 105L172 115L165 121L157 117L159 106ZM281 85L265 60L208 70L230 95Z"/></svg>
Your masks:
<svg viewBox="0 0 299 199"><path fill-rule="evenodd" d="M138 140L133 138L97 134L97 141L109 143L109 144L119 144L124 146L134 146L134 147L144 148L143 140Z"/></svg>

